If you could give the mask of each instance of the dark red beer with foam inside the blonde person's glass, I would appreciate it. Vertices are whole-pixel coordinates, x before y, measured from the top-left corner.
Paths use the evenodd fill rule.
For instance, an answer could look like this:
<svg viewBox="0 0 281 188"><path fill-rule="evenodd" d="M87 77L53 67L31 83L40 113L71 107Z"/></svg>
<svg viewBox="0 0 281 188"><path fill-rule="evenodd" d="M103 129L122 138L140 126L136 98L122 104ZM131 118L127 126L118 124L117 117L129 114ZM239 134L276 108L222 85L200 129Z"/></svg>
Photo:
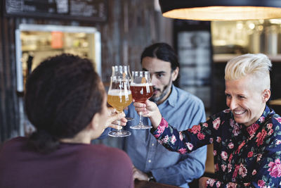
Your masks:
<svg viewBox="0 0 281 188"><path fill-rule="evenodd" d="M153 94L151 83L136 84L131 83L131 93L136 102L145 103Z"/></svg>

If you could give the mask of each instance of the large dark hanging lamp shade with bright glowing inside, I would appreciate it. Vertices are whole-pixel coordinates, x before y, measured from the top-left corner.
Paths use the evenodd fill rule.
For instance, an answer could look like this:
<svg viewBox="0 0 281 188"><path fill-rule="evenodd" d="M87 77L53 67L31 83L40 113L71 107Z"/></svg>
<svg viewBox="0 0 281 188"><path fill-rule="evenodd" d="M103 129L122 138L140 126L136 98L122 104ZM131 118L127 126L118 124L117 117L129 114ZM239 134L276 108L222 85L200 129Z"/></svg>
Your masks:
<svg viewBox="0 0 281 188"><path fill-rule="evenodd" d="M159 0L162 15L185 20L281 18L281 0Z"/></svg>

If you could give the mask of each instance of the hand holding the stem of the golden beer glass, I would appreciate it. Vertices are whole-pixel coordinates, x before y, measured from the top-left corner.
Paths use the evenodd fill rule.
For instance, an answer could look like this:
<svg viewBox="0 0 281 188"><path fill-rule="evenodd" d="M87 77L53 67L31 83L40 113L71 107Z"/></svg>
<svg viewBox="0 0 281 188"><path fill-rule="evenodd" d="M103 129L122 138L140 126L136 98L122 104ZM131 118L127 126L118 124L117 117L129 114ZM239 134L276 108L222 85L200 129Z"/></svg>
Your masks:
<svg viewBox="0 0 281 188"><path fill-rule="evenodd" d="M115 108L108 107L107 108L107 121L105 127L112 127L116 130L119 130L122 127L118 126L118 121L120 120L120 125L125 126L127 120L125 118L125 113L117 113Z"/></svg>

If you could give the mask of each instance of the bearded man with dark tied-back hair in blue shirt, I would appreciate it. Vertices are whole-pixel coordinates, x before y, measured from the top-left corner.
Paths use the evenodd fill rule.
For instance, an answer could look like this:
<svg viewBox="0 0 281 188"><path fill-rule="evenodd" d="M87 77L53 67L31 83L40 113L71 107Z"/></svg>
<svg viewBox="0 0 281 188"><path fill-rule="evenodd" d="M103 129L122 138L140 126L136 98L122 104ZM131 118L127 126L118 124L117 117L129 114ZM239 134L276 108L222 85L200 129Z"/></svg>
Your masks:
<svg viewBox="0 0 281 188"><path fill-rule="evenodd" d="M163 117L173 123L174 127L187 130L189 126L185 125L197 125L205 120L202 101L173 84L178 77L179 64L169 44L157 43L145 48L141 54L141 65L143 70L150 71L154 89L150 101L157 104ZM133 104L126 113L134 118L125 127L132 134L124 138L124 151L133 161L135 180L188 187L188 182L201 177L207 156L206 146L185 156L168 151L152 137L150 130L129 128L137 125L139 120ZM151 125L148 118L143 118L143 123Z"/></svg>

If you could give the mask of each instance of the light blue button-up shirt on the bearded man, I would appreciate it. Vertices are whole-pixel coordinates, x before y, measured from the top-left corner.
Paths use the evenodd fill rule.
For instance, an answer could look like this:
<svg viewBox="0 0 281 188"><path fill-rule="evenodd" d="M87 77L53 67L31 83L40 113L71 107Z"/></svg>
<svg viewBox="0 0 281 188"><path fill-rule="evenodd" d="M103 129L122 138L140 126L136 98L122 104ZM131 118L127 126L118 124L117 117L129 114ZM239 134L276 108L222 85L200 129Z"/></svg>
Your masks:
<svg viewBox="0 0 281 188"><path fill-rule="evenodd" d="M178 130L187 130L191 125L204 122L206 118L202 101L174 85L168 99L158 108L162 116ZM130 125L137 125L139 121L133 104L129 106L126 115L134 120L128 122L125 127L132 134L124 139L124 150L136 168L145 173L151 171L157 182L181 187L188 187L187 182L204 173L206 146L185 156L168 151L157 142L150 130L129 128ZM149 118L143 118L143 123L151 125Z"/></svg>

